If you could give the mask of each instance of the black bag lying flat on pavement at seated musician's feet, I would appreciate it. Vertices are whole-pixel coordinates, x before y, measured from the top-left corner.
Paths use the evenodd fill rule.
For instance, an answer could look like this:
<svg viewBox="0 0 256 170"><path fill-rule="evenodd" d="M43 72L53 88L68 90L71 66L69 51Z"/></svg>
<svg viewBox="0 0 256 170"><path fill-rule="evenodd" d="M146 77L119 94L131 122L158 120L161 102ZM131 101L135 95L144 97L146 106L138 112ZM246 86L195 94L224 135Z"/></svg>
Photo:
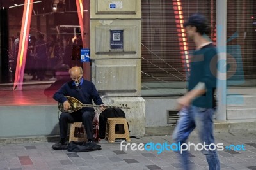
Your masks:
<svg viewBox="0 0 256 170"><path fill-rule="evenodd" d="M101 146L94 142L77 142L70 141L68 143L67 149L69 152L89 152L93 150L101 150Z"/></svg>

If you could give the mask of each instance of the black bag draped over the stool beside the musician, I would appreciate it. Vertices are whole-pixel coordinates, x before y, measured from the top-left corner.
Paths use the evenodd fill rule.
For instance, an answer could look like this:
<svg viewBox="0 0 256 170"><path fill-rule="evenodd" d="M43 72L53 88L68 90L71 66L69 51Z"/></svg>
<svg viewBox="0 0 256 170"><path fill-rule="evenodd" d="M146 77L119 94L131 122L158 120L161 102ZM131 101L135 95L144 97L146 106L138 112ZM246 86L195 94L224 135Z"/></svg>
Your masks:
<svg viewBox="0 0 256 170"><path fill-rule="evenodd" d="M99 116L99 138L100 139L105 138L107 120L108 118L113 118L113 117L126 118L124 111L121 109L109 108L102 111L102 113L100 113L100 116ZM129 128L129 125L128 125L128 128Z"/></svg>

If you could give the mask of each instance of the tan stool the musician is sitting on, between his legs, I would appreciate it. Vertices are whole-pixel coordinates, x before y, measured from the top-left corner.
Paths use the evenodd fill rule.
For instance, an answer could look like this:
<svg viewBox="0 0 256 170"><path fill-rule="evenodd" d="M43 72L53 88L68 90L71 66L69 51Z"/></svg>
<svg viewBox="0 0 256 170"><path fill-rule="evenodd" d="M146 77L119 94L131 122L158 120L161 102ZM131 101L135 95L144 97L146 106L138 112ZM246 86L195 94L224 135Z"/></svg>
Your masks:
<svg viewBox="0 0 256 170"><path fill-rule="evenodd" d="M86 131L82 122L74 122L70 126L69 142L70 141L87 141Z"/></svg>

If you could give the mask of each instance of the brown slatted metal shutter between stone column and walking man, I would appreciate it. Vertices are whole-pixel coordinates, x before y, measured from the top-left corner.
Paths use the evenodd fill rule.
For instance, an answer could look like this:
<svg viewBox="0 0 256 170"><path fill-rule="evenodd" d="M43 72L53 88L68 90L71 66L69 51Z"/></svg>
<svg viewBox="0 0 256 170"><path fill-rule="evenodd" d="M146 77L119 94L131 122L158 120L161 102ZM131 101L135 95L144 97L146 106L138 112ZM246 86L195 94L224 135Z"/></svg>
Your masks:
<svg viewBox="0 0 256 170"><path fill-rule="evenodd" d="M193 13L199 12L205 15L212 26L209 38L213 38L216 25L215 0L141 0L141 3L142 83L185 82L184 63L186 62L180 54L182 39L179 37L180 32L177 32L177 16L175 18L173 4L181 3L184 21ZM193 42L188 40L187 43L188 50L194 49Z"/></svg>

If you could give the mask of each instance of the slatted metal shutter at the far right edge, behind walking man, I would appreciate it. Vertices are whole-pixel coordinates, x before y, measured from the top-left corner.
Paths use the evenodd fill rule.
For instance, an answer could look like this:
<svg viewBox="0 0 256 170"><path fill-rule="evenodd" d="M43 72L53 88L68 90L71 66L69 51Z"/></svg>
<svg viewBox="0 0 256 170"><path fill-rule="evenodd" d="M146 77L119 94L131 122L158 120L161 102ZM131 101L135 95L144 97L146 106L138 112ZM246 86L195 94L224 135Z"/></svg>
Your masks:
<svg viewBox="0 0 256 170"><path fill-rule="evenodd" d="M255 85L256 1L227 1L228 85Z"/></svg>

